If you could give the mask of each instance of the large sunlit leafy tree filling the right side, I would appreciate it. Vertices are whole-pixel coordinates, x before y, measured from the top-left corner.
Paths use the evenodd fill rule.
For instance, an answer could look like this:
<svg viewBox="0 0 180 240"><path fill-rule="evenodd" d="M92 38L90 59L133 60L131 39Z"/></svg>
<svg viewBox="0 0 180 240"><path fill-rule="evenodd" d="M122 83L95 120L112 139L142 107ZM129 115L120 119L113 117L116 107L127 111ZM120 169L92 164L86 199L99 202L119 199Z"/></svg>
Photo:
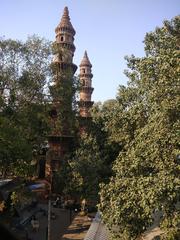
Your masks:
<svg viewBox="0 0 180 240"><path fill-rule="evenodd" d="M127 57L128 86L107 129L121 144L109 184L101 186L100 210L113 239L136 239L162 211L164 239L178 239L180 168L180 17L146 34L143 58Z"/></svg>

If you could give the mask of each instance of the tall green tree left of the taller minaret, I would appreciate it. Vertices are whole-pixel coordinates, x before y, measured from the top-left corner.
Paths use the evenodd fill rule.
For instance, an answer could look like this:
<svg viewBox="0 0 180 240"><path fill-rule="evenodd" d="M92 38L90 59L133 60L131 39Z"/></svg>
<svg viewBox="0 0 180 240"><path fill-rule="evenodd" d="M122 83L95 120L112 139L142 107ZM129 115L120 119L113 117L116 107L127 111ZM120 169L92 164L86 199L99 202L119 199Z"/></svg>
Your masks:
<svg viewBox="0 0 180 240"><path fill-rule="evenodd" d="M4 177L30 174L32 151L46 137L50 59L50 42L45 39L32 36L24 43L0 39L0 169Z"/></svg>

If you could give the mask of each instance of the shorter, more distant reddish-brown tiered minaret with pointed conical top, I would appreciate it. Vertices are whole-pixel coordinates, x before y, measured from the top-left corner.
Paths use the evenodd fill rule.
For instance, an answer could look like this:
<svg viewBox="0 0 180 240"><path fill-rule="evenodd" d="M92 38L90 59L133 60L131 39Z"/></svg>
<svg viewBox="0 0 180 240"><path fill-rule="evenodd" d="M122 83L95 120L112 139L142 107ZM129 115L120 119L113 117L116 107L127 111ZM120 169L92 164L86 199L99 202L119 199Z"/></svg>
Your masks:
<svg viewBox="0 0 180 240"><path fill-rule="evenodd" d="M86 131L87 124L89 122L88 119L91 118L90 108L93 105L91 101L91 95L94 90L92 88L92 73L91 73L92 65L89 61L87 52L85 51L84 57L80 64L80 101L79 101L79 115L80 115L80 132Z"/></svg>

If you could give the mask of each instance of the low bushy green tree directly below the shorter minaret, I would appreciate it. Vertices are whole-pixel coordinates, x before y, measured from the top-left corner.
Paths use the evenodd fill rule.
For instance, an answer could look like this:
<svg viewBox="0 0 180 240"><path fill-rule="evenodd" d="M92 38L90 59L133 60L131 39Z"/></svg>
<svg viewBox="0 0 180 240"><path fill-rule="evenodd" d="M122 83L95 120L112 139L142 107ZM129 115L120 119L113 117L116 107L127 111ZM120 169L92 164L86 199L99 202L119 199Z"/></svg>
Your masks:
<svg viewBox="0 0 180 240"><path fill-rule="evenodd" d="M103 168L103 160L94 137L85 134L82 136L70 166L74 192L81 199L95 204L98 201L99 183L102 181L100 172Z"/></svg>

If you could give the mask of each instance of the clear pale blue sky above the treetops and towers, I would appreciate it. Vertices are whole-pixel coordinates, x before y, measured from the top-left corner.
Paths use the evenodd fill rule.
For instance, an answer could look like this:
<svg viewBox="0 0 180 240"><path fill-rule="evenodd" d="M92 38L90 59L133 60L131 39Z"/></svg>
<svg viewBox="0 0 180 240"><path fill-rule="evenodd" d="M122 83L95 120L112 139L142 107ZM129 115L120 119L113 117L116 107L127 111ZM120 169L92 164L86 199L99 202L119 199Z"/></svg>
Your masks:
<svg viewBox="0 0 180 240"><path fill-rule="evenodd" d="M93 65L94 101L115 98L127 82L124 56L143 56L146 32L180 13L179 0L0 0L0 36L53 41L65 6L76 30L74 63L87 50Z"/></svg>

